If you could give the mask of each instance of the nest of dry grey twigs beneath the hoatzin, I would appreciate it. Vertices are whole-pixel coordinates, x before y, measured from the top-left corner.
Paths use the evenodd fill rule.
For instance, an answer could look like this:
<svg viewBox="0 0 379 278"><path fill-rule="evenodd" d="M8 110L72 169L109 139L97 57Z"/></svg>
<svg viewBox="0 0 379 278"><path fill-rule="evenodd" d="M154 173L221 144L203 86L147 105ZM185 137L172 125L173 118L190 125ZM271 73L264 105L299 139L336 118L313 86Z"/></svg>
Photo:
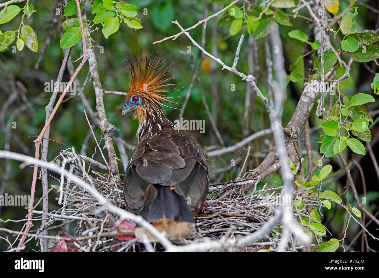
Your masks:
<svg viewBox="0 0 379 278"><path fill-rule="evenodd" d="M92 167L86 171L83 168L84 161L78 156L70 162L72 163L70 172L93 185L103 197L117 207L126 209L121 179L100 173ZM78 252L145 250L144 245L133 237L132 226L121 222L116 214L104 211L99 200L83 188L67 180L61 183L61 186L51 185L51 187L58 194L62 191L60 208L49 211L47 214L42 211L33 211L34 219L40 220L42 216L48 219L45 227L36 231L37 236L41 235L41 231L45 228L50 230L62 227L62 231L58 233L60 237L54 237L52 232L49 232L47 237L50 239L50 250L62 251L61 248ZM245 194L241 187L236 187L233 183L211 185L207 202L195 217L196 235L193 239L184 240L180 244L188 245L209 239L234 241L260 230L271 217L274 217L276 209L280 206L278 202L280 188L275 184L272 186L266 184L262 189L255 188L252 193ZM278 228L277 225L273 226L268 235L239 250L275 251L281 236ZM51 241L53 238L55 240ZM156 251L164 250L159 244L156 244L154 248ZM292 245L289 242L286 247L287 250L296 248L298 247L293 242Z"/></svg>

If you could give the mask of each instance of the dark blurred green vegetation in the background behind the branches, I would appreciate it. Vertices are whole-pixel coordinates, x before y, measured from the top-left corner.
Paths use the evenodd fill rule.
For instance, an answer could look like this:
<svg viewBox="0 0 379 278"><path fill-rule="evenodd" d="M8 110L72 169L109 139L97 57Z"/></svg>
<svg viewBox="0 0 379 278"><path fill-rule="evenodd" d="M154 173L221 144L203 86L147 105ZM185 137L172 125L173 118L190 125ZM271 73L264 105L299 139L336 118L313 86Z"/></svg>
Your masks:
<svg viewBox="0 0 379 278"><path fill-rule="evenodd" d="M45 106L49 103L50 93L44 93L45 82L50 82L51 79L55 80L58 74L59 68L61 66L61 61L63 59L63 51L60 48L60 37L62 35L61 23L66 19L64 16L58 16L58 24L54 27L51 36L51 42L47 47L44 59L42 60L39 69L35 70L34 65L38 57L41 55L41 51L44 48L46 30L50 25L50 21L55 17L56 6L60 7L62 1L56 2L51 0L38 0L31 1L34 8L37 10L33 16L24 20L28 25L32 26L34 31L38 36L39 50L38 53L34 53L28 50L26 47L23 51L17 51L12 53L11 47L4 53L0 53L0 106L2 111L6 110L5 122L0 123L0 149L5 149L6 133L12 132L14 136L11 136L10 151L23 153L27 155L34 156L34 136L38 135L45 123ZM379 9L379 3L376 0L362 0L362 3L370 5L375 9ZM342 11L347 5L348 1L341 1L340 10ZM170 36L179 32L179 28L171 23L171 20L178 20L180 24L186 28L194 25L198 20L204 18L204 1L192 1L192 0L135 0L132 2L133 5L138 7L139 15L141 17L141 24L143 29L134 31L128 29L125 24L120 25L120 30L117 33L112 34L108 39L105 39L101 31L98 33L94 32L91 34L92 38L96 42L94 50L96 53L96 58L99 66L99 75L105 90L123 91L126 92L130 86L130 74L126 63L124 61L124 54L131 55L134 51L137 56L140 53L140 48L144 55L149 55L151 52L160 51L161 58L163 59L164 66L169 65L172 62L179 61L177 65L172 69L172 74L176 77L175 83L180 83L183 86L179 92L170 93L170 96L183 96L188 90L189 83L193 76L193 62L191 55L193 55L194 63L197 65L201 58L200 51L194 47L188 38L184 35L178 37L176 40L167 40L163 43L152 44L156 40L160 40L163 37ZM23 6L24 3L16 4ZM357 30L362 32L365 29L376 30L379 27L378 23L378 13L367 9L362 5L357 4L359 14L356 17L358 27ZM88 19L92 19L93 15L89 12L89 3L87 2L87 16ZM144 16L142 14L143 8L147 8L148 15ZM211 12L218 11L222 8L222 4L208 3L208 14ZM62 9L63 11L63 9ZM290 13L290 11L287 11ZM300 12L305 16L309 16L304 9ZM0 25L2 31L6 30L17 30L20 23L20 15L15 17L11 22ZM329 15L330 18L330 15ZM298 57L301 56L302 43L297 40L290 39L287 36L288 31L292 29L300 29L307 32L308 26L305 24L305 20L301 18L293 19L291 18L293 24L292 27L285 27L280 25L280 34L283 41L284 57L286 70L288 70L289 65L293 64ZM255 73L257 78L256 82L263 95L267 95L267 83L265 76L265 50L264 50L264 39L258 40L258 52L249 50L249 35L246 29L241 30L237 35L229 35L229 26L222 26L216 29L216 34L212 31L214 20L210 20L207 24L206 33L206 43L205 49L211 52L213 47L213 41L216 41L217 46L217 57L224 61L227 65L232 65L236 45L240 38L241 33L246 34L246 39L241 49L240 61L238 63L238 70L244 73ZM201 30L202 27L198 27L190 31L191 36L197 41L201 41ZM341 39L341 38L340 38ZM11 45L13 46L14 43ZM104 53L99 53L99 47L104 47ZM191 46L191 53L187 53L188 47ZM81 42L75 45L72 49L71 59L75 60L81 56ZM181 53L180 51L185 51ZM253 56L251 56L251 53ZM249 56L250 55L250 56ZM258 59L259 68L255 67L254 59ZM75 62L74 65L79 64ZM346 61L347 62L347 61ZM300 62L300 71L304 71L302 67L302 62ZM366 65L363 63L354 62L352 69L350 71L351 77L343 81L340 85L340 90L343 94L353 94L359 92L370 93L373 95L373 90L370 87L370 83L373 80L373 73L375 73L378 68L374 62L367 64L371 71L367 70ZM337 69L337 76L343 74L344 69ZM78 78L81 85L86 79L88 73L88 63L80 71ZM12 78L9 78L9 75ZM201 70L199 72L199 77L201 79L202 87L204 90L205 98L207 99L208 106L210 107L213 115L216 115L217 126L221 133L221 136L227 146L235 144L244 138L243 135L243 113L244 113L244 103L245 103L245 93L246 93L246 82L241 81L241 79L230 73L229 71L221 71L221 66L216 64L212 65L210 58L206 58L202 64ZM70 75L66 70L64 73L63 81L68 81ZM215 79L216 82L212 80ZM10 93L12 92L11 83L15 84L17 89L20 91L17 99L13 101L9 106L5 106L6 100L8 99ZM231 90L231 84L235 84L235 90ZM79 89L79 88L77 88ZM212 89L216 94L212 94ZM285 100L284 113L283 113L283 126L285 126L290 120L291 115L294 112L298 99L301 95L302 82L292 83L287 87L287 98ZM25 110L22 113L16 115L15 120L17 124L16 129L5 130L5 123L11 116L11 114L18 107L25 104L27 101L33 100L36 96L42 93L42 98L36 101L30 109ZM85 89L83 91L86 98L88 99L91 107L94 109L95 95L94 89L91 81L88 81ZM22 96L23 94L23 96ZM269 128L269 118L266 112L265 106L259 98L256 98L253 94L254 99L254 110L251 117L251 124L249 127L249 134L253 134L256 131ZM67 97L66 97L67 98ZM335 96L336 98L336 96ZM183 102L183 98L177 98L179 102ZM114 124L121 130L121 138L126 140L131 144L136 144L137 139L135 137L136 130L138 128L138 122L133 120L131 115L121 117L121 107L124 103L123 96L119 95L105 95L104 104L105 110L108 116L108 120L111 124ZM327 106L327 100L326 100ZM368 111L377 109L379 103L371 103L367 106ZM176 108L181 108L181 104L174 106ZM80 150L86 135L88 134L88 124L83 110L85 107L81 104L78 97L75 96L70 98L61 104L53 118L50 139L66 144L69 147L74 146L76 150ZM165 108L166 114L170 120L175 120L179 115L179 110ZM316 118L315 116L316 106L310 115L310 126L316 127L323 123L323 120ZM184 113L185 119L199 119L205 120L206 128L205 133L200 134L198 131L190 131L191 134L199 141L199 143L204 147L217 145L215 136L210 126L210 122L205 113L204 106L202 105L199 89L194 85L191 97L189 98L188 106L186 107ZM374 123L377 123L374 117ZM320 130L315 131L311 134L312 147L313 150L319 154L319 144L316 141L319 138ZM377 126L371 129L373 138L378 135ZM96 129L95 134L99 140L100 130ZM17 140L18 138L18 140ZM54 141L50 141L49 144L49 155L48 160L52 161L59 155L61 149L66 149L66 147ZM258 138L258 140L251 143L252 152L251 158L248 161L248 169L254 169L260 161L262 161L262 155L256 155L257 153L267 153L269 148L273 145L274 141L272 136L267 136L264 138ZM373 142L373 150L378 157L379 147L376 142ZM103 141L100 142L100 145ZM94 148L96 143L91 138L89 141L89 146L87 149L87 155L91 156L94 153ZM302 146L305 149L304 145ZM115 145L115 148L117 146ZM116 152L118 153L117 149ZM211 176L221 171L222 168L230 163L231 159L234 159L238 155L239 151L230 154L222 155L221 157L212 158L210 163L212 170ZM130 156L130 151L127 151ZM348 154L348 158L351 158L352 154ZM244 155L243 155L244 156ZM307 173L307 157L305 158L304 167ZM319 155L321 157L321 155ZM99 152L94 156L97 161L102 161ZM355 200L351 193L343 194L345 192L346 179L345 175L340 174L343 172L341 169L340 160L335 156L334 158L326 159L327 163L333 166L332 174L330 177L323 182L324 189L330 189L339 194L344 202L350 202L352 206ZM7 165L10 165L9 177L5 178L5 172L7 171ZM29 195L30 185L32 180L32 167L27 167L24 169L19 168L20 163L11 160L1 160L0 161L0 195L5 193L13 195ZM367 208L369 211L377 211L379 205L379 191L378 191L378 179L375 175L374 168L369 155L363 157L360 160L360 165L363 168L363 173L366 180L367 188ZM119 163L120 173L123 173L123 168L121 162ZM234 179L240 167L229 167L222 176L221 181L227 181ZM318 170L319 171L319 170ZM50 173L51 174L51 173ZM356 183L357 190L359 194L363 195L362 179L359 171L356 167L352 169L352 176L354 182ZM56 179L55 174L51 174L49 177L50 184L59 184ZM216 180L216 179L215 179ZM212 180L211 182L215 182ZM279 173L274 173L266 180L260 183L263 186L265 182L281 184L281 178ZM37 180L36 186L36 200L41 197L42 188L41 181ZM55 190L50 193L50 209L58 209L57 200L55 197ZM40 203L36 210L41 210ZM334 234L335 238L342 238L343 231L346 224L346 213L345 210L339 209L332 203L332 209L326 211L323 209L324 217L323 224ZM27 210L21 207L0 207L0 218L6 219L22 219L27 214ZM12 230L21 230L23 222L6 222L0 223L0 227L10 228ZM371 224L374 225L374 224ZM36 229L39 224L35 225L31 230ZM353 221L350 221L349 228L347 230L346 242L350 242L360 231L360 227ZM379 233L373 226L369 226L368 230L372 231L374 236L378 236ZM56 231L49 231L50 235L55 235ZM5 234L0 233L1 236ZM330 237L329 234L327 236ZM379 246L377 242L371 241L368 237L370 246L374 249L378 249ZM34 241L34 239L33 239ZM36 242L36 241L35 241ZM30 246L30 245L29 245ZM0 250L5 250L8 245L5 241L0 239ZM30 248L30 247L27 247ZM39 247L34 247L35 250L39 250ZM354 250L360 250L360 239L354 244Z"/></svg>

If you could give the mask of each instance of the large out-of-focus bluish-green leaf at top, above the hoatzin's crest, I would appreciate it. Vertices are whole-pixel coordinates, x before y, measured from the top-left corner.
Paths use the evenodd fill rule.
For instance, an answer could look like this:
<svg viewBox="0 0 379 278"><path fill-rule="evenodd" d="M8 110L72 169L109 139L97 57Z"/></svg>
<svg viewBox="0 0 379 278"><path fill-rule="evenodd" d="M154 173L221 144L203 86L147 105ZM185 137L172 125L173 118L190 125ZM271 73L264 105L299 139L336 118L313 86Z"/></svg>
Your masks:
<svg viewBox="0 0 379 278"><path fill-rule="evenodd" d="M171 1L160 2L153 6L149 18L152 20L153 26L164 33L172 28L171 22L175 20L175 8Z"/></svg>

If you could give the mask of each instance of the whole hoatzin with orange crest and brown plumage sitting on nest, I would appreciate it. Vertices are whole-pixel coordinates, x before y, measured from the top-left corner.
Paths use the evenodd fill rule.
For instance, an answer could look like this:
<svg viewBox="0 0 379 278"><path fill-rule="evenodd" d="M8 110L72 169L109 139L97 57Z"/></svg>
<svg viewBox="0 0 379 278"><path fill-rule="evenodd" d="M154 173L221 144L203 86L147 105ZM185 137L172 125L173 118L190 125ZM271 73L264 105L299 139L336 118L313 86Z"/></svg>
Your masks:
<svg viewBox="0 0 379 278"><path fill-rule="evenodd" d="M160 70L163 62L158 53L146 57L142 53L135 64L125 59L132 75L122 115L133 110L138 119L138 145L133 149L125 171L124 198L128 211L141 215L159 231L166 231L171 241L181 241L194 233L194 218L209 189L209 171L199 143L185 130L168 120L161 106L176 104L164 92L167 82L174 79L169 71L173 65ZM168 107L168 106L166 106ZM144 228L135 230L138 239L147 235Z"/></svg>

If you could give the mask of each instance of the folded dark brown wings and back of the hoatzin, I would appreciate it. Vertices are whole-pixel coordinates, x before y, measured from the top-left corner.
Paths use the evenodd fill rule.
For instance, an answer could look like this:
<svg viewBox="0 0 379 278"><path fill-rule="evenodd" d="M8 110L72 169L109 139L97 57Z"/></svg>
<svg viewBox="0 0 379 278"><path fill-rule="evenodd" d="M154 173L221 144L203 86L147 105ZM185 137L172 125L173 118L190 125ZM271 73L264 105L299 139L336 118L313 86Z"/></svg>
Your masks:
<svg viewBox="0 0 379 278"><path fill-rule="evenodd" d="M199 209L209 189L209 171L199 143L184 130L162 130L133 150L125 172L128 210L140 214L157 197L154 185L174 186L191 211Z"/></svg>

